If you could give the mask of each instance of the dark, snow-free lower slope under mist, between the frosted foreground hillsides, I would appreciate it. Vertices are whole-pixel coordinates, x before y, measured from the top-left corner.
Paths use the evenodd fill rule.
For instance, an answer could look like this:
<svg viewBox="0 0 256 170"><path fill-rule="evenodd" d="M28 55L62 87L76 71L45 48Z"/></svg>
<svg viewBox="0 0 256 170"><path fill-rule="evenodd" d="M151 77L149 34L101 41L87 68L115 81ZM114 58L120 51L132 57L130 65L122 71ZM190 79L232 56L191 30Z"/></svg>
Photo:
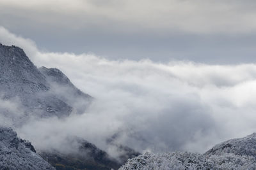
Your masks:
<svg viewBox="0 0 256 170"><path fill-rule="evenodd" d="M72 152L51 150L39 154L57 170L116 169L121 166L118 161L109 157L108 153L84 139L72 137L67 138L66 142L70 143L70 147L73 147Z"/></svg>

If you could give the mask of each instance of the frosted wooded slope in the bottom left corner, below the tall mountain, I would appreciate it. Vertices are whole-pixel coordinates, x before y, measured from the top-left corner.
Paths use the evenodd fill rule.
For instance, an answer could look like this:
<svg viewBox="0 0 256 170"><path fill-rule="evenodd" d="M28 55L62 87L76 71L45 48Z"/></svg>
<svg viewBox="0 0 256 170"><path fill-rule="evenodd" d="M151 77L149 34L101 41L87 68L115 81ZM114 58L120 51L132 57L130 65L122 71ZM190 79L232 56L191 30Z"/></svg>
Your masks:
<svg viewBox="0 0 256 170"><path fill-rule="evenodd" d="M54 169L28 141L17 137L10 128L0 127L0 169Z"/></svg>

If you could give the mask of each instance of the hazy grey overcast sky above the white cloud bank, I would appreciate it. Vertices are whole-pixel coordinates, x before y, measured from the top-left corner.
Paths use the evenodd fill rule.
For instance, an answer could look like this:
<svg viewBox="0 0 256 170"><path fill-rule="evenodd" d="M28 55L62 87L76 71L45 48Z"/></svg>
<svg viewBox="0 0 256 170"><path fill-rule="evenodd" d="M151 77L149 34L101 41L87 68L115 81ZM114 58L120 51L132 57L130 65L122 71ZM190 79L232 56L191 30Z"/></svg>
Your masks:
<svg viewBox="0 0 256 170"><path fill-rule="evenodd" d="M48 52L255 62L256 1L0 0L0 25Z"/></svg>

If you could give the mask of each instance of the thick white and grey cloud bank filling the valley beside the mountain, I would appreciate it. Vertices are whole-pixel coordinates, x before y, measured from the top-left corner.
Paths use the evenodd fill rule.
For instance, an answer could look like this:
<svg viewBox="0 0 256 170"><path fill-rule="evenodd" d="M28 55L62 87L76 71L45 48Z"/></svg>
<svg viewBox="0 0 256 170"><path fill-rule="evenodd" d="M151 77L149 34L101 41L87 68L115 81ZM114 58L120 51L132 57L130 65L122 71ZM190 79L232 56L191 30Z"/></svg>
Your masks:
<svg viewBox="0 0 256 170"><path fill-rule="evenodd" d="M143 151L204 152L256 131L256 65L106 60L93 54L42 52L0 27L0 41L24 48L36 66L58 67L95 97L83 115L48 118L17 129L39 149L79 136L115 154L106 139ZM42 142L44 141L44 142Z"/></svg>

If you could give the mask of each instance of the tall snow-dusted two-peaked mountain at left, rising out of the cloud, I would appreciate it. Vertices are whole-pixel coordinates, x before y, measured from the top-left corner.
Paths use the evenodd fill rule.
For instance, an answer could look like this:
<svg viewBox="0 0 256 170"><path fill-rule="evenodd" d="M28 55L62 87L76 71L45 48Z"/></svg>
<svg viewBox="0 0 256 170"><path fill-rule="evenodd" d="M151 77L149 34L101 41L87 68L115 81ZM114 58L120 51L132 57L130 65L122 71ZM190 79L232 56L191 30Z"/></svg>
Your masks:
<svg viewBox="0 0 256 170"><path fill-rule="evenodd" d="M11 117L10 110L1 114L14 120L14 124L33 117L65 117L71 111L83 113L92 97L81 92L58 69L36 66L17 46L0 44L0 97L4 101L19 100L24 115ZM74 100L76 99L76 100ZM79 99L79 104L76 101Z"/></svg>

